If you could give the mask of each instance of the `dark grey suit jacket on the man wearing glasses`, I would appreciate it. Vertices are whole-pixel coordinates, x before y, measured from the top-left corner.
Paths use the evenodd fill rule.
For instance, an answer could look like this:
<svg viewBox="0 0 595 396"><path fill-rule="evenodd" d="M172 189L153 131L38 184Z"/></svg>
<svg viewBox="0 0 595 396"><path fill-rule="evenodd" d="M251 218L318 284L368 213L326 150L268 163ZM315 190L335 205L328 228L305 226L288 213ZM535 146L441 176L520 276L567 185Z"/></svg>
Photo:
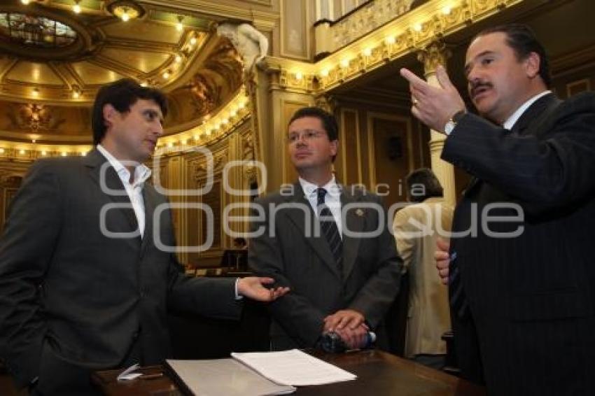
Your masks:
<svg viewBox="0 0 595 396"><path fill-rule="evenodd" d="M359 189L342 192L342 209L350 206L343 224L343 274L325 236L307 234L318 220L300 183L293 185L290 194L275 193L255 203L265 215L253 222L253 231L260 228L262 235L248 245L248 264L258 274L291 288L288 295L269 304L274 350L314 346L325 316L339 309L363 313L372 328L381 323L398 292L402 261L388 232L386 211L366 206L382 208L379 197ZM380 234L358 238L346 235L346 229L379 229Z"/></svg>

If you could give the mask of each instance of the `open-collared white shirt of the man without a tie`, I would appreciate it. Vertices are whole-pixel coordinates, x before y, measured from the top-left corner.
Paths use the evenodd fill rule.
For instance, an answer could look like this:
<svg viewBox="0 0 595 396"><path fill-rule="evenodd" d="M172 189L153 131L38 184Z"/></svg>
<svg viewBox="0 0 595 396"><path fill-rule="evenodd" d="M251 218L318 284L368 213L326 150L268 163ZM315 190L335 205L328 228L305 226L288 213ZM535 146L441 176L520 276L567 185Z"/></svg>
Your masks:
<svg viewBox="0 0 595 396"><path fill-rule="evenodd" d="M141 232L141 238L145 233L145 201L143 199L143 186L145 181L151 177L151 169L148 169L145 164L139 164L134 168L134 181L130 183L130 171L122 164L122 162L116 160L116 157L106 150L101 144L97 145L97 150L102 153L106 160L109 161L113 169L120 177L126 193L130 198L130 203L134 209L134 215L137 216L137 222L139 223L139 231Z"/></svg>

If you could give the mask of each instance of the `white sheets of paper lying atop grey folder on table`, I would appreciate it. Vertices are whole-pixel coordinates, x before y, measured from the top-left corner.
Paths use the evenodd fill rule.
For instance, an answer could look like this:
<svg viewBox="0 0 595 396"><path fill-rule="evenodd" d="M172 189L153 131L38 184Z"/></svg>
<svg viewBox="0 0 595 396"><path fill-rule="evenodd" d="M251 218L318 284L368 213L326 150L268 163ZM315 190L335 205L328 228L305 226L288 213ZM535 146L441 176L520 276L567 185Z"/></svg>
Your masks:
<svg viewBox="0 0 595 396"><path fill-rule="evenodd" d="M232 358L283 385L308 386L351 381L357 376L297 349L282 352L232 353Z"/></svg>

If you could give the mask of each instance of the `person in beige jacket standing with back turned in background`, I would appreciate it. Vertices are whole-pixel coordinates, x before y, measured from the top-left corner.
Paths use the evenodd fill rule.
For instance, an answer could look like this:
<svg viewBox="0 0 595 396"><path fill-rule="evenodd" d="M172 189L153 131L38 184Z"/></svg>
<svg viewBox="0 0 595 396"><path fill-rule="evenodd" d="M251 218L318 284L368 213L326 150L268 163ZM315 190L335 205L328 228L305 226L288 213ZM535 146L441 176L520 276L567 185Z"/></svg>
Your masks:
<svg viewBox="0 0 595 396"><path fill-rule="evenodd" d="M450 330L448 289L435 269L434 250L439 236L447 236L453 208L442 197L442 185L431 169L412 171L405 179L412 204L395 213L393 234L403 268L409 276L409 309L405 357L442 369Z"/></svg>

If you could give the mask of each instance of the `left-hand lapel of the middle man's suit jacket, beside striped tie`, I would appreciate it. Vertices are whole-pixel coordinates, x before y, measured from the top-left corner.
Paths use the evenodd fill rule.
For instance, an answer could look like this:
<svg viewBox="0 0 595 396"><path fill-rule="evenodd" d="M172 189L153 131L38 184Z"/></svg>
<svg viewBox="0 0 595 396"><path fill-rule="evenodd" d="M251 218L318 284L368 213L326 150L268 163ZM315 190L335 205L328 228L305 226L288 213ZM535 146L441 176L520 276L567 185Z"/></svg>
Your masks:
<svg viewBox="0 0 595 396"><path fill-rule="evenodd" d="M302 185L300 185L299 182L294 183L293 192L293 195L287 197L287 203L295 205L295 207L283 209L281 210L281 213L285 213L295 227L300 229L300 234L304 236L306 243L311 246L314 252L316 252L316 255L320 257L321 261L324 262L325 265L337 275L337 277L341 278L337 263L335 262L335 257L332 257L332 252L328 247L324 235L321 232L318 232L318 235L314 233L314 229L318 227L318 218L314 215L314 211L304 195L304 190L302 190ZM307 209L305 213L304 210L302 210L303 208ZM320 228L318 227L318 230L319 229Z"/></svg>

